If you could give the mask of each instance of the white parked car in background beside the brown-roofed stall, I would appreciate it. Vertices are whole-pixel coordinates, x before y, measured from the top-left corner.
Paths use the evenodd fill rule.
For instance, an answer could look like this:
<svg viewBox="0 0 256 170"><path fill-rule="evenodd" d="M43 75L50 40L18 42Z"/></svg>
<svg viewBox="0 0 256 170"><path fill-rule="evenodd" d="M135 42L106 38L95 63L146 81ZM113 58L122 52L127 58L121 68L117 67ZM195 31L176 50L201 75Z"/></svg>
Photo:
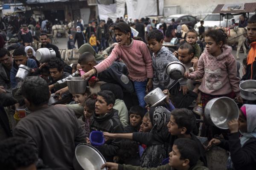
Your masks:
<svg viewBox="0 0 256 170"><path fill-rule="evenodd" d="M232 15L232 14L226 14L225 16L220 15L220 14L208 14L206 17L204 17L204 29L205 31L209 27L219 27L220 25L222 27L227 27L227 25L232 24L232 19L235 19L235 21L239 21L239 16L240 15ZM221 20L221 21L220 21ZM201 26L201 23L198 22L195 24L195 31L198 32L198 27Z"/></svg>

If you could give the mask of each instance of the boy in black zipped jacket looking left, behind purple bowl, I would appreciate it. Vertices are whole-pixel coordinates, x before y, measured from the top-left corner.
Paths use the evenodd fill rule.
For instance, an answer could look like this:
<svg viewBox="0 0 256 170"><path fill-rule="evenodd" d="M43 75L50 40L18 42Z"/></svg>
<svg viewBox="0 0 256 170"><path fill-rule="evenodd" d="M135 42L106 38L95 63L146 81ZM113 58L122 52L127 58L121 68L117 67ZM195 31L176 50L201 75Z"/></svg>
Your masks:
<svg viewBox="0 0 256 170"><path fill-rule="evenodd" d="M91 117L90 131L123 133L118 111L113 109L115 100L115 95L111 91L100 91L98 93L95 112ZM120 140L109 139L101 147L98 147L98 150L106 160L113 161L113 156L116 156L116 150L119 149L119 142Z"/></svg>

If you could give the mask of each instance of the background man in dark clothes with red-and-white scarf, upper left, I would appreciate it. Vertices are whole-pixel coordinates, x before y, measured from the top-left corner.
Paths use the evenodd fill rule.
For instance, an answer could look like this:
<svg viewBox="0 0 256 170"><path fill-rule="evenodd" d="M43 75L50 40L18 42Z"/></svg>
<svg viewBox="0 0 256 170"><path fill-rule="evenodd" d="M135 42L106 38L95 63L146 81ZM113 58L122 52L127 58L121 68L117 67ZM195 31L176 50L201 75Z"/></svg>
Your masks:
<svg viewBox="0 0 256 170"><path fill-rule="evenodd" d="M32 45L33 38L26 24L22 24L22 28L18 33L18 40L23 41L24 46Z"/></svg>

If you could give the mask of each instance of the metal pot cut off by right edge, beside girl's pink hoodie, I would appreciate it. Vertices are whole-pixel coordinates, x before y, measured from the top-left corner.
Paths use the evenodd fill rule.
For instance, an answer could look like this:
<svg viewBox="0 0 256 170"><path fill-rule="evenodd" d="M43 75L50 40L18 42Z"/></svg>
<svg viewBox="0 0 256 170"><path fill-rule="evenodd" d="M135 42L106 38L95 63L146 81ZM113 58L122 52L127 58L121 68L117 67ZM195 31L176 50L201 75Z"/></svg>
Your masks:
<svg viewBox="0 0 256 170"><path fill-rule="evenodd" d="M240 83L240 96L245 100L256 100L256 80L245 80Z"/></svg>

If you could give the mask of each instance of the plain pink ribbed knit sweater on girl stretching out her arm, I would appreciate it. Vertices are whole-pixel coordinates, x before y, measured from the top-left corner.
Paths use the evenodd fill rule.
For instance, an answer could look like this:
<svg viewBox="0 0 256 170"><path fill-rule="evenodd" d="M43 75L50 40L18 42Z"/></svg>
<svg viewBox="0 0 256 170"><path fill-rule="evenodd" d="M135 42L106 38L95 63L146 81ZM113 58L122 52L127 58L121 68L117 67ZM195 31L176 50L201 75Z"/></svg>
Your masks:
<svg viewBox="0 0 256 170"><path fill-rule="evenodd" d="M100 73L117 58L121 58L126 64L132 81L142 82L153 77L152 58L144 42L132 40L130 45L116 45L110 56L94 68Z"/></svg>

